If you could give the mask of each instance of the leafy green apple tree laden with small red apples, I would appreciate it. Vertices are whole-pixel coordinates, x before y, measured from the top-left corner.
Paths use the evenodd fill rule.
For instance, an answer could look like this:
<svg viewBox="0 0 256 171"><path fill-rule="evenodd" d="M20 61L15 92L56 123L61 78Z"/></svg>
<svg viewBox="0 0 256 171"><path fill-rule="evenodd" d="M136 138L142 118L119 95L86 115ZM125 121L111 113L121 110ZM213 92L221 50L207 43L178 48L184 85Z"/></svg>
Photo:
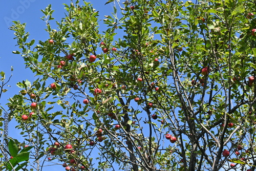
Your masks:
<svg viewBox="0 0 256 171"><path fill-rule="evenodd" d="M23 170L254 170L255 2L104 3L65 4L57 27L49 5L45 40L11 27L36 78L8 103Z"/></svg>

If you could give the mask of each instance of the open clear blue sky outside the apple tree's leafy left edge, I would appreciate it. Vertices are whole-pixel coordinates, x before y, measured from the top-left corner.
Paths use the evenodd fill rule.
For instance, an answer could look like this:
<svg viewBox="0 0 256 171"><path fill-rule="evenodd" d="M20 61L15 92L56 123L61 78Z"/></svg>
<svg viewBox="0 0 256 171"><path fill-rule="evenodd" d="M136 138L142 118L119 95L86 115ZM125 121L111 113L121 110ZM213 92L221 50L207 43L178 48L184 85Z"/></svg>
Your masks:
<svg viewBox="0 0 256 171"><path fill-rule="evenodd" d="M13 76L9 82L8 91L2 94L0 99L0 105L5 109L8 109L5 104L8 102L7 99L13 97L15 94L18 94L20 88L16 86L16 83L28 79L30 82L33 82L35 77L34 74L29 70L25 69L24 60L20 55L13 54L12 51L18 50L16 45L16 39L14 38L14 32L9 30L9 27L12 25L12 20L19 20L20 23L27 23L26 31L30 33L29 39L35 39L35 44L38 40L49 39L49 34L44 30L46 25L40 17L43 16L41 9L45 9L49 4L52 5L52 9L55 10L53 17L55 20L60 22L60 18L65 17L66 10L63 8L62 4L70 4L71 1L40 1L40 0L11 0L3 1L0 7L0 31L1 39L0 41L0 72L4 71L6 77L9 77L11 74L11 66L13 66ZM104 5L107 0L92 0L90 1L93 4L93 7L99 11L99 19L103 19L104 15L110 15L113 11L112 5ZM52 22L55 23L55 22ZM100 23L102 25L102 22ZM53 25L54 26L54 25ZM56 29L56 27L52 27ZM101 31L104 28L101 27ZM15 122L11 121L9 123L9 136L15 137L20 141L23 141L23 137L19 135L19 132L14 129ZM51 163L46 163L51 164ZM48 166L44 167L42 170L64 170L62 166Z"/></svg>

